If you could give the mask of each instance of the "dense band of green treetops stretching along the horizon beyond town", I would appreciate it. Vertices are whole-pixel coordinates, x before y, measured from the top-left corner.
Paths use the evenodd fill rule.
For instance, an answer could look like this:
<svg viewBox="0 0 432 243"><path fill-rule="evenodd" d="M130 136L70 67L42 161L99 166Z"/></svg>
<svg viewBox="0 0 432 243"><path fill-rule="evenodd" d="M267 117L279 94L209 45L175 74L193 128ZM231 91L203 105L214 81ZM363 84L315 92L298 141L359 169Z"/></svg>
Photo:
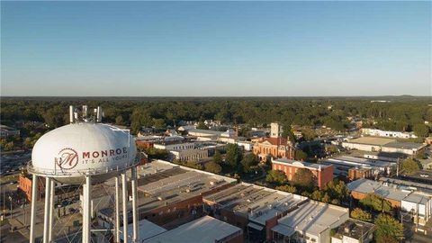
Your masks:
<svg viewBox="0 0 432 243"><path fill-rule="evenodd" d="M14 121L42 121L55 128L67 123L68 105L88 104L89 107L103 106L104 121L128 125L134 132L141 126L163 128L182 120L205 119L246 123L248 126L281 121L285 124L325 125L334 130L347 130L348 118L360 117L366 127L414 130L419 136L428 136L429 127L424 121L432 121L432 107L428 106L432 99L428 98L394 99L391 103L371 103L366 98L107 99L109 101L7 98L1 101L1 120L10 125L14 125Z"/></svg>

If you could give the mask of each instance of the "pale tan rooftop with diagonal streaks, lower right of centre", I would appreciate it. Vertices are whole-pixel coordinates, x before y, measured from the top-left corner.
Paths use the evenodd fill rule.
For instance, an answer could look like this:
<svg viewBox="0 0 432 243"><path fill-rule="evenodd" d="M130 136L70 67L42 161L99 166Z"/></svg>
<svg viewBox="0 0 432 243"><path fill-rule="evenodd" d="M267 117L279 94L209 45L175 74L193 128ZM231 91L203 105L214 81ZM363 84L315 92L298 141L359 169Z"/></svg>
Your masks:
<svg viewBox="0 0 432 243"><path fill-rule="evenodd" d="M287 228L288 231L295 229L319 235L341 220L342 217L348 218L348 209L310 201L303 203L298 209L289 212L277 221L281 227Z"/></svg>

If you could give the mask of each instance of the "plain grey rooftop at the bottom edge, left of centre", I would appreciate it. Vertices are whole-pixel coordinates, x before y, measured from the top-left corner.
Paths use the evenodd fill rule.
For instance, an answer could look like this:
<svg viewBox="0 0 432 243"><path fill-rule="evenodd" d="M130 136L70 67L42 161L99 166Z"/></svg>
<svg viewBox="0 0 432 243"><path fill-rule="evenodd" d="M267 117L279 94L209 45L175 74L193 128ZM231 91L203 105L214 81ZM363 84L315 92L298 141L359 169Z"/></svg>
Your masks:
<svg viewBox="0 0 432 243"><path fill-rule="evenodd" d="M214 243L242 234L242 230L221 220L204 216L178 228L144 240L145 243Z"/></svg>

